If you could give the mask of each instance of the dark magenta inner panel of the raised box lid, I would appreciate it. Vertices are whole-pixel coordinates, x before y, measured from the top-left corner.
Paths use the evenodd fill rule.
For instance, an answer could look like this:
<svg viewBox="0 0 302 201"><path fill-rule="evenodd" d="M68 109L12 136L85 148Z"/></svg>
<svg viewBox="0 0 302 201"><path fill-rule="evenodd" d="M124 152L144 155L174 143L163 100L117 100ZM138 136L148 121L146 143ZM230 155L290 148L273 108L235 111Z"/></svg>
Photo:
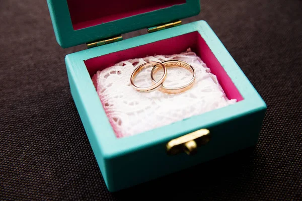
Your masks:
<svg viewBox="0 0 302 201"><path fill-rule="evenodd" d="M67 0L74 30L185 3L185 0Z"/></svg>

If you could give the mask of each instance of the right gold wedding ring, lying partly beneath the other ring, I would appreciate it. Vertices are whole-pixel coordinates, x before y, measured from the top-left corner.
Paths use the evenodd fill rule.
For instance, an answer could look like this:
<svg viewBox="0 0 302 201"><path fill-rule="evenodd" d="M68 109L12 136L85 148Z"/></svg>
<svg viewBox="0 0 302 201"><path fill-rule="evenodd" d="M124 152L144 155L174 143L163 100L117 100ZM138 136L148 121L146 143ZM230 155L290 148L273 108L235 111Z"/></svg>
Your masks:
<svg viewBox="0 0 302 201"><path fill-rule="evenodd" d="M166 68L170 68L170 67L185 68L185 69L189 70L190 72L192 72L193 77L192 77L192 79L187 84L185 84L183 86L180 86L180 87L166 87L163 84L163 82L165 80L161 79L159 81L156 81L154 79L154 75L160 70L159 67L154 66L153 69L152 69L152 71L151 71L151 79L152 79L153 83L156 83L156 84L158 84L160 82L162 83L161 87L159 88L159 90L161 92L170 93L170 94L182 93L182 92L190 89L193 86L193 83L195 81L195 69L189 63L187 63L185 61L180 61L180 60L167 60L167 61L163 61L162 64L164 64Z"/></svg>

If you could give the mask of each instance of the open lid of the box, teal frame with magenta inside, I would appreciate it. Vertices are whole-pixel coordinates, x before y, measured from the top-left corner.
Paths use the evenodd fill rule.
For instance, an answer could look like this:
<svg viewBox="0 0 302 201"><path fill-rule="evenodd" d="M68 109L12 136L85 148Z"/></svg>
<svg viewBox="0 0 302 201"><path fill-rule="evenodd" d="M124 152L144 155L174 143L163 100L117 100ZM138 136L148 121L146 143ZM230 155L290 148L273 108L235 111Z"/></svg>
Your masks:
<svg viewBox="0 0 302 201"><path fill-rule="evenodd" d="M197 15L199 0L47 0L62 48Z"/></svg>

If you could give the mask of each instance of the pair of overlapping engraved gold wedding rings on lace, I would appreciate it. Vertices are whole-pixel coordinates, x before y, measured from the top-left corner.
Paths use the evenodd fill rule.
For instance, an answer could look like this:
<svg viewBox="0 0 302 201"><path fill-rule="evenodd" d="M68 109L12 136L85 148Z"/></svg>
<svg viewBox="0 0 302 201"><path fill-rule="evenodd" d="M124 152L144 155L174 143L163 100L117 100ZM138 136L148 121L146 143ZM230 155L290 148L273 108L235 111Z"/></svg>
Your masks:
<svg viewBox="0 0 302 201"><path fill-rule="evenodd" d="M136 76L143 70L147 69L147 68L153 68L151 71L151 79L152 82L154 83L151 86L148 87L138 87L134 84L134 79L136 78ZM193 76L192 79L185 85L183 86L179 86L179 87L166 87L163 85L164 81L167 78L167 68L170 67L179 67L179 68L185 68L187 70L189 70ZM161 79L159 81L156 81L154 79L154 75L161 70L161 68L163 68L164 70L164 74L161 77ZM131 78L130 78L130 82L133 86L133 88L139 92L151 92L154 90L159 89L161 92L164 93L170 93L170 94L176 94L176 93L182 93L186 90L188 90L189 88L191 88L193 86L193 83L195 81L195 69L193 66L191 66L189 63L185 62L185 61L181 61L181 60L167 60L167 61L163 61L163 62L156 62L156 61L150 61L150 62L146 62L140 66L138 66L132 73Z"/></svg>

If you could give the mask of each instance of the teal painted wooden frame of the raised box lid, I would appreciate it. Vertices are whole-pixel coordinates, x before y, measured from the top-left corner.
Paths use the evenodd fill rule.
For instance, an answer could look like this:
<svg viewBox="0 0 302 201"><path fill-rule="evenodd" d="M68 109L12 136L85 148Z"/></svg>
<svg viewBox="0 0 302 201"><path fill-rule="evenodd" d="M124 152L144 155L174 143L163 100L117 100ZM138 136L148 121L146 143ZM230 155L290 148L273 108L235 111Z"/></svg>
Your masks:
<svg viewBox="0 0 302 201"><path fill-rule="evenodd" d="M175 5L169 8L74 31L67 1L47 0L47 4L56 40L63 48L153 27L161 23L180 20L197 15L200 12L199 0L187 0L186 4Z"/></svg>

